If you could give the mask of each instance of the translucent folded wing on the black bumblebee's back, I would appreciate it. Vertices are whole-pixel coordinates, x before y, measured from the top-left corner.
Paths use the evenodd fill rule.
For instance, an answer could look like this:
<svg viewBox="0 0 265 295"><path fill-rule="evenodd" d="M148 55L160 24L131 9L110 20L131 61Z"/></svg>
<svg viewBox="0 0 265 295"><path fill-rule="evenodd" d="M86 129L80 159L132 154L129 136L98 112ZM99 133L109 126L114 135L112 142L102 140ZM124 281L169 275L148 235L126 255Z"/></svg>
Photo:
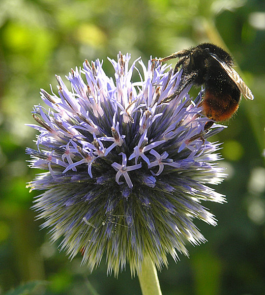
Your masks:
<svg viewBox="0 0 265 295"><path fill-rule="evenodd" d="M226 64L223 60L219 59L216 55L209 53L214 59L216 59L223 69L227 72L228 76L236 83L236 86L241 91L243 96L246 99L254 99L254 96L251 92L251 90L246 86L245 82L242 80L242 78L239 76L239 74L228 64Z"/></svg>

